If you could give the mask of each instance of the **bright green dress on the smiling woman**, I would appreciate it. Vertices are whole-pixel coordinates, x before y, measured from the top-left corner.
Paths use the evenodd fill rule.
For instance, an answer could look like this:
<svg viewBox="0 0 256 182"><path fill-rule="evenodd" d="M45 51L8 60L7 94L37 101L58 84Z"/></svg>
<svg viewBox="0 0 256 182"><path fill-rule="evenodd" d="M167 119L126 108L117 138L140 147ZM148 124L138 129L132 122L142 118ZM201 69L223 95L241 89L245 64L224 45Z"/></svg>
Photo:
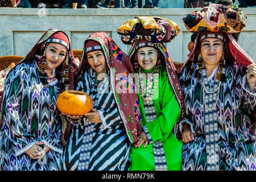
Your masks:
<svg viewBox="0 0 256 182"><path fill-rule="evenodd" d="M151 72L145 71L145 73ZM164 155L166 158L167 170L178 171L181 170L181 151L182 141L177 140L174 135L175 122L180 117L180 107L176 100L174 90L172 90L168 80L166 68L160 66L158 82L156 85L152 101L155 107L156 119L147 122L143 99L139 94L139 105L142 115L142 128L145 131L150 142L145 148L144 143L139 148L134 145L130 150L131 171L154 171L156 170L156 163L159 162L161 155L154 155L153 143L162 141ZM154 86L154 85L153 85Z"/></svg>

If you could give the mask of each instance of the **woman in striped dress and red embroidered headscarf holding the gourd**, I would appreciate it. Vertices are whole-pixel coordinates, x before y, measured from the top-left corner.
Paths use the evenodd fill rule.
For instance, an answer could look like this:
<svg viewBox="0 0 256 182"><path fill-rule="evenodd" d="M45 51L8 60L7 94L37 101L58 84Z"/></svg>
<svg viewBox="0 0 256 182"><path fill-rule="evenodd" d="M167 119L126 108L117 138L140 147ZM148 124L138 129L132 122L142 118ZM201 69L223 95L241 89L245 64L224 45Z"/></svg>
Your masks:
<svg viewBox="0 0 256 182"><path fill-rule="evenodd" d="M67 115L64 170L123 171L130 166L131 143L141 131L133 66L105 34L84 43L76 90L89 94L93 109L85 117Z"/></svg>

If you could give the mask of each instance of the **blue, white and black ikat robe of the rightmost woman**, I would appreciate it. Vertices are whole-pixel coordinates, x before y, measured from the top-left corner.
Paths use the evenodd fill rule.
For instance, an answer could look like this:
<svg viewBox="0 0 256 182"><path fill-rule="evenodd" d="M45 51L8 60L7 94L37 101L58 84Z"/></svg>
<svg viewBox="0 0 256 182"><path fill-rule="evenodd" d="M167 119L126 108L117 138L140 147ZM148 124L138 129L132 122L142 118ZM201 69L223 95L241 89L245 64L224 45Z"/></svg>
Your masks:
<svg viewBox="0 0 256 182"><path fill-rule="evenodd" d="M184 67L180 73L180 83L184 92L187 118L183 122L190 123L195 140L183 145L182 169L206 170L203 78L197 80L194 70L191 84L185 86L190 68L190 64ZM196 68L196 65L193 68ZM236 87L232 88L233 68L234 65L225 68L226 82L221 83L216 106L220 170L255 170L256 121L253 115L256 113L256 90L254 93L249 92L246 66L239 63L236 64L235 70ZM215 77L216 75L213 75L212 83Z"/></svg>

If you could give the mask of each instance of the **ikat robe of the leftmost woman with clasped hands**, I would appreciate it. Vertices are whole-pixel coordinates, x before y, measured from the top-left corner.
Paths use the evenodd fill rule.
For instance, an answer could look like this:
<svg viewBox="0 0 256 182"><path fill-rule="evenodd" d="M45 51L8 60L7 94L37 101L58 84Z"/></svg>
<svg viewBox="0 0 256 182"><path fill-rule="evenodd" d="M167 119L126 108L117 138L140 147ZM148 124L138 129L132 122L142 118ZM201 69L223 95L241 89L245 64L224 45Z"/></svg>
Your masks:
<svg viewBox="0 0 256 182"><path fill-rule="evenodd" d="M2 170L59 170L63 147L60 141L57 79L49 88L39 78L35 61L20 63L5 81L2 103L0 154ZM40 159L31 159L24 151L42 141L51 148Z"/></svg>

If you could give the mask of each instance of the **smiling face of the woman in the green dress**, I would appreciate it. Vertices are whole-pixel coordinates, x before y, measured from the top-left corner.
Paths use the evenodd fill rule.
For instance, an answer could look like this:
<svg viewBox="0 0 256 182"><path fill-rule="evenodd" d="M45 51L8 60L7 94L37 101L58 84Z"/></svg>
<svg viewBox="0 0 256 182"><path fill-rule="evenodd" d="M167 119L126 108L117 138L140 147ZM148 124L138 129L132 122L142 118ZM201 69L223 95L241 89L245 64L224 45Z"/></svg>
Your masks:
<svg viewBox="0 0 256 182"><path fill-rule="evenodd" d="M141 47L137 51L139 65L146 70L155 66L158 60L158 51L154 47Z"/></svg>

